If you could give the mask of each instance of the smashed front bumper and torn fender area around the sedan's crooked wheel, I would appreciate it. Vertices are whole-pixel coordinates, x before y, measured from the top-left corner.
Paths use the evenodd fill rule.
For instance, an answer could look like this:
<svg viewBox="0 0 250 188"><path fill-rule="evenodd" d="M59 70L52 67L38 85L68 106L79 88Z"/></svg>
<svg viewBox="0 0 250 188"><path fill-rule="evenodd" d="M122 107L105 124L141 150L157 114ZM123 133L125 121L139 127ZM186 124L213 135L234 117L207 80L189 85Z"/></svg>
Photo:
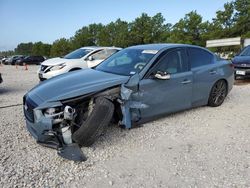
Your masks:
<svg viewBox="0 0 250 188"><path fill-rule="evenodd" d="M103 97L112 101L115 106L113 120L129 129L133 122L140 120L140 109L147 108L146 104L136 101L141 95L138 82L138 79L130 79L119 87L46 105L36 105L27 95L24 97L27 128L37 143L57 149L63 158L85 161L86 157L73 135L90 116L95 99Z"/></svg>

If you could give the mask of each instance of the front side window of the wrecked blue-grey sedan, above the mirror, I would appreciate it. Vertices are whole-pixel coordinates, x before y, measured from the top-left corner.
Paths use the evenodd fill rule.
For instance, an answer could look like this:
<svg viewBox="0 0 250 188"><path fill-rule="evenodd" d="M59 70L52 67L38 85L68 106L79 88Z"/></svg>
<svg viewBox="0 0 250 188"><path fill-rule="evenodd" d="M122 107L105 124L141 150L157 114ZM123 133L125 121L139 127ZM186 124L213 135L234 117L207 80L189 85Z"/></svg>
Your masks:
<svg viewBox="0 0 250 188"><path fill-rule="evenodd" d="M170 51L160 60L157 71L168 72L170 74L188 71L188 63L184 49Z"/></svg>

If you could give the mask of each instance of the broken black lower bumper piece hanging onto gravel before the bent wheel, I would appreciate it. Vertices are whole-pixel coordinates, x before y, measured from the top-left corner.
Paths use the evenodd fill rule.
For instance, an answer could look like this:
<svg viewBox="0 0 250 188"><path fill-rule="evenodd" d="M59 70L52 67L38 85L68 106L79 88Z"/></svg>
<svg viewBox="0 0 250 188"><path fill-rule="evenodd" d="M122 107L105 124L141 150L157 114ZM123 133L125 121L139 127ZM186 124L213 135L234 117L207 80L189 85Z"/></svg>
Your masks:
<svg viewBox="0 0 250 188"><path fill-rule="evenodd" d="M44 147L56 149L57 154L65 159L78 162L87 160L78 144L64 144L62 138L55 132L48 132L47 136L49 137L46 140L37 141L37 143Z"/></svg>

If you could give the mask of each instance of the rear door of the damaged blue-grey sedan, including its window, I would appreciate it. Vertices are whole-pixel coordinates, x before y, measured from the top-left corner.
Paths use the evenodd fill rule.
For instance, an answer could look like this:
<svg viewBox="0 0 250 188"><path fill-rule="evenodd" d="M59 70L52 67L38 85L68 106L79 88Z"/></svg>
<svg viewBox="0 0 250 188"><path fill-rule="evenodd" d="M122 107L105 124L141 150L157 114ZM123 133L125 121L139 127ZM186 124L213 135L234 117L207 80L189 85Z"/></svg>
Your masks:
<svg viewBox="0 0 250 188"><path fill-rule="evenodd" d="M214 55L204 49L188 47L187 52L193 73L192 106L206 105L218 78L218 65L214 63Z"/></svg>

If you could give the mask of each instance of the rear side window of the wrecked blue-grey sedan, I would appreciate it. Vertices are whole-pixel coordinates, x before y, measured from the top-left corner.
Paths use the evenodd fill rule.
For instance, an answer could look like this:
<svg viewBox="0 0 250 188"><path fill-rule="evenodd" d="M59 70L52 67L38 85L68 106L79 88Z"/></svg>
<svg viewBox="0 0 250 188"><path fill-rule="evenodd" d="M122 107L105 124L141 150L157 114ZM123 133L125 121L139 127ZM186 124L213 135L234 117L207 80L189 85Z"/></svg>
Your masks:
<svg viewBox="0 0 250 188"><path fill-rule="evenodd" d="M212 63L213 55L199 48L188 48L191 68L208 65Z"/></svg>

